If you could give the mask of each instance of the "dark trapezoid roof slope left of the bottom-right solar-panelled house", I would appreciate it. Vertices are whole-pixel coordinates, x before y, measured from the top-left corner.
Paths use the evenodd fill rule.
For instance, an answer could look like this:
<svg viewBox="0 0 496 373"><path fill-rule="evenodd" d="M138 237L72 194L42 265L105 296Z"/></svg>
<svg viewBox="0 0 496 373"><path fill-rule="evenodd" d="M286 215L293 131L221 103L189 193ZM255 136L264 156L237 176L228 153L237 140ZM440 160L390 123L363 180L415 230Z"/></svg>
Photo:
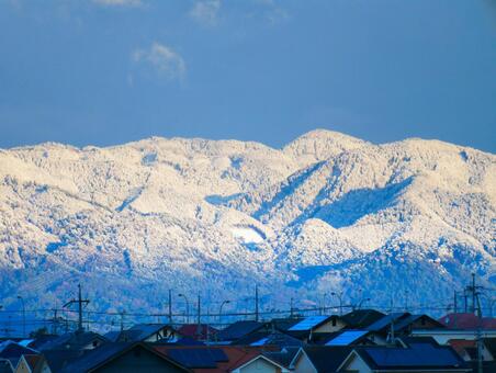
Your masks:
<svg viewBox="0 0 496 373"><path fill-rule="evenodd" d="M302 350L319 373L330 373L337 371L352 348L348 346L306 346ZM298 353L302 352L298 351ZM297 358L295 357L295 359Z"/></svg>

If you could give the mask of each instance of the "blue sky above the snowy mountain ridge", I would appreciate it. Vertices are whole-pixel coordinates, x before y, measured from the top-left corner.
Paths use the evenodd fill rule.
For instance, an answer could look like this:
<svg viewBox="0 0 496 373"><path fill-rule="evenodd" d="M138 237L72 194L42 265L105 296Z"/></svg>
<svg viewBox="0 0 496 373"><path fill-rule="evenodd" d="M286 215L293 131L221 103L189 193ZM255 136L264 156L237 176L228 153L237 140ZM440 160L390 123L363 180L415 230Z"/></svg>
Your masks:
<svg viewBox="0 0 496 373"><path fill-rule="evenodd" d="M496 1L0 0L0 147L316 127L496 152Z"/></svg>

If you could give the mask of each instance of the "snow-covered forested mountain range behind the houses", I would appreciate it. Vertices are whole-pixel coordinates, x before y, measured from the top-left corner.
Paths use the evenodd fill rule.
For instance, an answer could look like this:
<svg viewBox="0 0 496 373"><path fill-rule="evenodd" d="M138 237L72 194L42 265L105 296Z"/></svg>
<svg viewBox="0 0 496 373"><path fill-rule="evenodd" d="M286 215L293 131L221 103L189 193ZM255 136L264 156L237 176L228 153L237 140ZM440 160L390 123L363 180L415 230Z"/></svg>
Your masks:
<svg viewBox="0 0 496 373"><path fill-rule="evenodd" d="M230 307L264 294L440 305L496 283L496 156L314 131L282 149L149 138L0 150L0 296L164 310L169 289ZM330 301L328 303L336 304ZM285 305L285 303L283 303ZM278 305L281 306L281 303Z"/></svg>

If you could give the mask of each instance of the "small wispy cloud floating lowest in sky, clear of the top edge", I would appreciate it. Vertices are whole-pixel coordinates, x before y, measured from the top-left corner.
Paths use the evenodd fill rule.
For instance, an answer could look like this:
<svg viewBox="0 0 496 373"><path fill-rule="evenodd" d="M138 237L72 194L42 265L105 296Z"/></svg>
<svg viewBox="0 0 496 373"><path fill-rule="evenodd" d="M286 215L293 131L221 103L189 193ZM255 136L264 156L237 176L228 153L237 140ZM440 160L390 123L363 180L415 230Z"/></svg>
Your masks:
<svg viewBox="0 0 496 373"><path fill-rule="evenodd" d="M185 76L184 59L167 45L154 43L149 48L136 49L132 57L135 63L151 66L160 78L182 80Z"/></svg>

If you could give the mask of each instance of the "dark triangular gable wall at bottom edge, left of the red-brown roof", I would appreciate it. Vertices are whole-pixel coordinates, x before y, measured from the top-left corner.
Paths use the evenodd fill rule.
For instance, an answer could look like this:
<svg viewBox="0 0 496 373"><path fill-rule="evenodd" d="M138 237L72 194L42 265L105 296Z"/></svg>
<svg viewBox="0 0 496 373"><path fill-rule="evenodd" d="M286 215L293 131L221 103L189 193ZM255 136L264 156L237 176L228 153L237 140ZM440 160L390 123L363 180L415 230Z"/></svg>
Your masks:
<svg viewBox="0 0 496 373"><path fill-rule="evenodd" d="M110 361L108 364L93 371L99 373L136 373L136 372L162 372L179 373L184 372L161 359L155 353L136 347L125 354Z"/></svg>

